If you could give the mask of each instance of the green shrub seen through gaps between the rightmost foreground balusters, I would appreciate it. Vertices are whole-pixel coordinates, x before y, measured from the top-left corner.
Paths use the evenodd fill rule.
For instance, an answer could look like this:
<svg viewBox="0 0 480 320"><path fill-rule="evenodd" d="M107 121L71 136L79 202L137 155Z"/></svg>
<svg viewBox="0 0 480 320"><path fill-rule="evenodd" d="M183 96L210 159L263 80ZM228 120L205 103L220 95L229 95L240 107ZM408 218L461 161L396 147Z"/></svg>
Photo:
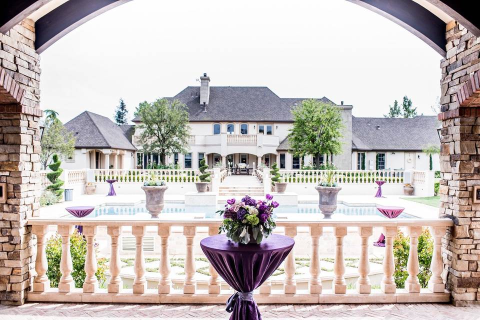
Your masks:
<svg viewBox="0 0 480 320"><path fill-rule="evenodd" d="M410 239L398 230L393 239L393 255L395 257L395 278L396 287L403 288L404 282L408 276L406 264L408 261L408 251L410 249ZM418 237L418 261L420 270L418 272L418 281L422 288L428 285L430 279L430 262L433 254L433 240L428 228L423 228Z"/></svg>

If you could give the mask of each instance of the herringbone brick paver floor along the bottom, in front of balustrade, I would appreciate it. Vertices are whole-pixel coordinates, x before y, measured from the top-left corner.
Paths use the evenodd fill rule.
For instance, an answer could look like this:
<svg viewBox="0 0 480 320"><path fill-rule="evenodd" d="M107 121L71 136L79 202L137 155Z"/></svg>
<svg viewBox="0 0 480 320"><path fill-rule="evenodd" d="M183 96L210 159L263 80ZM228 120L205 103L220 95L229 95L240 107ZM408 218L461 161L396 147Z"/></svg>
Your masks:
<svg viewBox="0 0 480 320"><path fill-rule="evenodd" d="M450 304L263 304L264 319L394 319L394 320L477 320L480 307L454 307ZM224 305L218 304L80 304L27 303L0 306L3 320L46 319L227 319Z"/></svg>

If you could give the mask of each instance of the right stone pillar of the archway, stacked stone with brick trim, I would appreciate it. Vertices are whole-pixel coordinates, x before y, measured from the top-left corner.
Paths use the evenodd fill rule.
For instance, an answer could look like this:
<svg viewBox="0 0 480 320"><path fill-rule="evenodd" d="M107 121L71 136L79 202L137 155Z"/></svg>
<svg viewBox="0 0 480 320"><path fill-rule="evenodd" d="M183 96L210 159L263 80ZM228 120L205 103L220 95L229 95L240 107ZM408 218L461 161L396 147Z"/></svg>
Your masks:
<svg viewBox="0 0 480 320"><path fill-rule="evenodd" d="M440 63L440 216L450 217L454 226L443 238L442 275L460 306L480 304L480 203L471 200L473 185L480 184L480 113L461 110L456 92L480 69L480 37L452 21L446 39L446 58Z"/></svg>

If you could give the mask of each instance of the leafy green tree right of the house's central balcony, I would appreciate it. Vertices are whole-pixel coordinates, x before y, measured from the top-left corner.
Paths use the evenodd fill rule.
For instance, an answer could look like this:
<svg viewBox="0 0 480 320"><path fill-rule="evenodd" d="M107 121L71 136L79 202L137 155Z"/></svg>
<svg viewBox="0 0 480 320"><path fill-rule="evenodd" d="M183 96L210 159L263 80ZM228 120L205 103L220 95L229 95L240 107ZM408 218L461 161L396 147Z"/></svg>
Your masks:
<svg viewBox="0 0 480 320"><path fill-rule="evenodd" d="M307 99L291 110L293 126L288 133L291 151L295 156L312 154L316 167L321 154L341 153L344 128L340 108L317 99Z"/></svg>

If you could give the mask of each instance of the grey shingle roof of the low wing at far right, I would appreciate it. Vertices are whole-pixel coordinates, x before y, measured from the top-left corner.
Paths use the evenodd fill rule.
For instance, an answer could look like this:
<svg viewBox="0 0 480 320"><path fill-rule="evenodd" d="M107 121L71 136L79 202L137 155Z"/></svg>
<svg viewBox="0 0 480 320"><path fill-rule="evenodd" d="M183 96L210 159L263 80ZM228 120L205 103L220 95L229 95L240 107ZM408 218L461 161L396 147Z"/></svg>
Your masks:
<svg viewBox="0 0 480 320"><path fill-rule="evenodd" d="M434 115L413 118L352 117L352 149L419 151L429 144L439 145Z"/></svg>

